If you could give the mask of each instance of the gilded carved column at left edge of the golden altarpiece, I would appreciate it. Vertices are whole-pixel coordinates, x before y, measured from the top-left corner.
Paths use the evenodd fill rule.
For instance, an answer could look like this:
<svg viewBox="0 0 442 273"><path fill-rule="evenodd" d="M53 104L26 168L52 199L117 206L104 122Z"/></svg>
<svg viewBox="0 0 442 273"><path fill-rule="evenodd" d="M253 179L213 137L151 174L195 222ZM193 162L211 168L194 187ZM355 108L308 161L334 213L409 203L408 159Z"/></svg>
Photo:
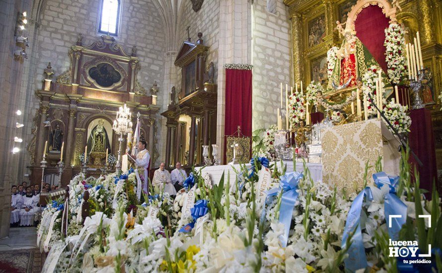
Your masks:
<svg viewBox="0 0 442 273"><path fill-rule="evenodd" d="M292 47L293 47L293 72L294 81L299 83L302 79L302 37L301 37L301 14L292 12Z"/></svg>

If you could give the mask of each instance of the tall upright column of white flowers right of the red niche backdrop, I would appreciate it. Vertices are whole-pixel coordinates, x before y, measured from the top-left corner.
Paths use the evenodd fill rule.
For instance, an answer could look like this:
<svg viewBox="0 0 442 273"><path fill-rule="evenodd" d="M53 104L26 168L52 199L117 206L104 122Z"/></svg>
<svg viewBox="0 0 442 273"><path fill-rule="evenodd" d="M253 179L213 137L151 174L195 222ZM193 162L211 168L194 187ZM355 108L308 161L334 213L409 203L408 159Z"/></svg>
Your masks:
<svg viewBox="0 0 442 273"><path fill-rule="evenodd" d="M385 29L385 61L390 81L399 84L407 70L405 60L404 30L397 23L392 23Z"/></svg>

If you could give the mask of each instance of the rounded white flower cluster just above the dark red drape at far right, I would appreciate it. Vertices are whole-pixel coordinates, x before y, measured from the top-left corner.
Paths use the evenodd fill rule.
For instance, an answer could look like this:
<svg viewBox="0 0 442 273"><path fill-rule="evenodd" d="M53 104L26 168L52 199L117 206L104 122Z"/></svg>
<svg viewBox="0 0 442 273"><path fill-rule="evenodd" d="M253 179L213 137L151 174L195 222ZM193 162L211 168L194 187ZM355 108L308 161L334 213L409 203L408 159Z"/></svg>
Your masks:
<svg viewBox="0 0 442 273"><path fill-rule="evenodd" d="M384 106L384 115L399 134L410 132L411 118L407 115L408 106L396 103L394 99ZM386 123L384 121L384 123ZM394 132L392 132L394 133Z"/></svg>

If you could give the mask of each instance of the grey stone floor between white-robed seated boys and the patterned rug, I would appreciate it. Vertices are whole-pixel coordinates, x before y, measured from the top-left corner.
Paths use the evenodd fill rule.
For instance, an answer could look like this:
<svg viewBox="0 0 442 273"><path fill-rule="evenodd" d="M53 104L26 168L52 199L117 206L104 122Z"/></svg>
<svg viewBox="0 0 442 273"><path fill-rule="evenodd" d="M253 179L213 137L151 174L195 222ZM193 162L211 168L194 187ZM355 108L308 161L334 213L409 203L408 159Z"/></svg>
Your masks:
<svg viewBox="0 0 442 273"><path fill-rule="evenodd" d="M9 236L0 239L0 251L36 247L37 230L35 227L11 227L9 229Z"/></svg>

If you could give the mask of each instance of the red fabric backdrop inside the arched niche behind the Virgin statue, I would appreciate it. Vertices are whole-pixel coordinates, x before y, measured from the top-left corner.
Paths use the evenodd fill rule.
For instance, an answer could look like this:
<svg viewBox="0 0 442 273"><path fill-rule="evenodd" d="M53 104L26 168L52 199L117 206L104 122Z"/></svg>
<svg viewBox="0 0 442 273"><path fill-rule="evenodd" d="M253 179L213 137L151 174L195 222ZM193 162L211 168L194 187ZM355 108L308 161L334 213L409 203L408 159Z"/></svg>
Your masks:
<svg viewBox="0 0 442 273"><path fill-rule="evenodd" d="M363 8L355 21L356 36L384 71L387 71L384 46L385 29L388 28L389 21L390 19L382 13L382 8L377 5Z"/></svg>

